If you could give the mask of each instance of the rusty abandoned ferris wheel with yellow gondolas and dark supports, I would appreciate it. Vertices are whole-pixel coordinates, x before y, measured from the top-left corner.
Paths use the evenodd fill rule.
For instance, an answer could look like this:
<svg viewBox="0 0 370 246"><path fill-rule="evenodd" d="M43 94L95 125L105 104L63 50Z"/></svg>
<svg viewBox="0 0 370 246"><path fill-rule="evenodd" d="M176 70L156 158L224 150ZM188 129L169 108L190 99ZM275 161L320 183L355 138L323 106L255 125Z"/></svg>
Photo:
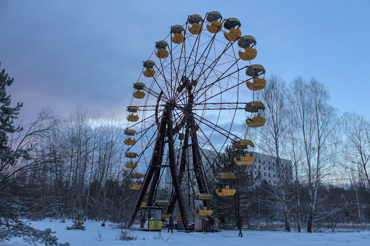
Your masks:
<svg viewBox="0 0 370 246"><path fill-rule="evenodd" d="M248 128L265 124L265 106L247 96L265 87L265 69L251 64L256 39L242 36L240 26L237 18L223 19L217 11L204 18L193 14L153 42L127 107L126 167L131 189L138 190L130 224L140 207L162 207L166 219L177 206L178 221L188 229L191 218L213 213L212 194L236 192L228 184L235 174L215 167L225 146L242 150L235 164L253 163L253 141L240 138L235 125L240 118ZM146 173L135 171L138 166ZM223 187L207 178L210 172Z"/></svg>

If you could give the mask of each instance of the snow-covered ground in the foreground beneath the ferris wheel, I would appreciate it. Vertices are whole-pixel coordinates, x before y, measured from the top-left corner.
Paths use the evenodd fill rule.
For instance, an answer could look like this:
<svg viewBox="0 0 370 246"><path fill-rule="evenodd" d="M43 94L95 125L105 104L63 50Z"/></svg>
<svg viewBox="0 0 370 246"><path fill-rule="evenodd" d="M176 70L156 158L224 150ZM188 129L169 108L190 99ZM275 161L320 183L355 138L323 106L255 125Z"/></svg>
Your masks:
<svg viewBox="0 0 370 246"><path fill-rule="evenodd" d="M31 222L35 228L51 228L56 231L54 235L59 238L60 242L69 242L71 246L116 246L116 245L147 245L165 246L165 245L212 245L212 246L289 246L289 245L370 245L370 232L337 232L337 233L307 233L307 232L272 232L272 231L243 231L243 238L238 237L238 231L222 231L217 233L184 233L175 232L171 234L162 231L164 239L154 239L158 232L133 231L138 239L130 241L117 240L119 230L111 229L108 223L105 227L101 222L85 222L86 230L67 231L66 226L71 226L71 221L61 223L59 221L50 222L36 221ZM102 241L98 240L98 232L101 233ZM4 245L29 246L20 238L13 238L6 241Z"/></svg>

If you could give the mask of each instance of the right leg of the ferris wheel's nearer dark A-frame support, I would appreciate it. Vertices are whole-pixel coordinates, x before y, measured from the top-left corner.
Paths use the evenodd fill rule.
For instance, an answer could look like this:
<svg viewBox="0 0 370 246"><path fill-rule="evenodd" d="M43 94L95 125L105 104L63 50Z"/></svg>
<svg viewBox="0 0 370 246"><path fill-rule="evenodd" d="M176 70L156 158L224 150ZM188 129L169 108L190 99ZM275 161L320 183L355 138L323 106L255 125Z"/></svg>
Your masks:
<svg viewBox="0 0 370 246"><path fill-rule="evenodd" d="M168 137L169 170L172 176L172 184L175 188L175 196L177 199L177 203L179 205L179 210L180 210L181 217L182 217L182 223L184 224L185 230L188 230L189 229L188 216L186 215L184 201L182 200L182 194L181 194L178 175L176 171L174 138L173 138L173 129L172 129L173 126L172 126L172 121L171 121L171 111L170 110L168 110L167 117L168 117L167 137Z"/></svg>

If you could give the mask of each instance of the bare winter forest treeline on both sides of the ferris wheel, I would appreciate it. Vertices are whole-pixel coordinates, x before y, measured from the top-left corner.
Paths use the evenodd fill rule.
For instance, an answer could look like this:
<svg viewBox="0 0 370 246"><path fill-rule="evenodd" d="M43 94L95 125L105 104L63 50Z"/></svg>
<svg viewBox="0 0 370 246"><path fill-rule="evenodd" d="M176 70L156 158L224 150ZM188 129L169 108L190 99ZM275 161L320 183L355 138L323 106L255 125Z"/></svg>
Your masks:
<svg viewBox="0 0 370 246"><path fill-rule="evenodd" d="M233 225L239 215L246 226L282 223L287 231L293 225L309 232L324 224L333 229L337 223L365 225L370 212L369 119L334 108L329 91L314 78L287 83L272 75L266 80L265 90L255 94L265 104L266 124L243 134L254 139L258 152L275 158L276 175L270 180L275 185L234 167L235 196L215 195L220 225ZM127 218L137 191L130 189L125 168L124 121L83 107L68 117L44 107L35 120L24 121L15 119L17 131L2 132L16 157L1 161L0 196L19 199L26 218L63 219L76 210L94 220ZM233 151L226 148L222 158L235 166ZM292 160L293 177L281 175L286 170L280 158ZM346 181L328 183L333 175Z"/></svg>

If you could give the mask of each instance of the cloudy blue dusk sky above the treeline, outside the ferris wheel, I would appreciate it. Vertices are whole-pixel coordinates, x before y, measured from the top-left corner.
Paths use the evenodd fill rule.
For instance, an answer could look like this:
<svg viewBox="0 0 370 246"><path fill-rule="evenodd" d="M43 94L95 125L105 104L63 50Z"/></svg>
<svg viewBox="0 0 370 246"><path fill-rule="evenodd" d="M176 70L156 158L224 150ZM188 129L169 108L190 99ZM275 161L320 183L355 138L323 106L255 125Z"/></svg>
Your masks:
<svg viewBox="0 0 370 246"><path fill-rule="evenodd" d="M219 11L257 40L257 64L314 76L342 112L370 117L370 1L1 1L0 61L23 113L77 105L126 114L155 41L188 15Z"/></svg>

